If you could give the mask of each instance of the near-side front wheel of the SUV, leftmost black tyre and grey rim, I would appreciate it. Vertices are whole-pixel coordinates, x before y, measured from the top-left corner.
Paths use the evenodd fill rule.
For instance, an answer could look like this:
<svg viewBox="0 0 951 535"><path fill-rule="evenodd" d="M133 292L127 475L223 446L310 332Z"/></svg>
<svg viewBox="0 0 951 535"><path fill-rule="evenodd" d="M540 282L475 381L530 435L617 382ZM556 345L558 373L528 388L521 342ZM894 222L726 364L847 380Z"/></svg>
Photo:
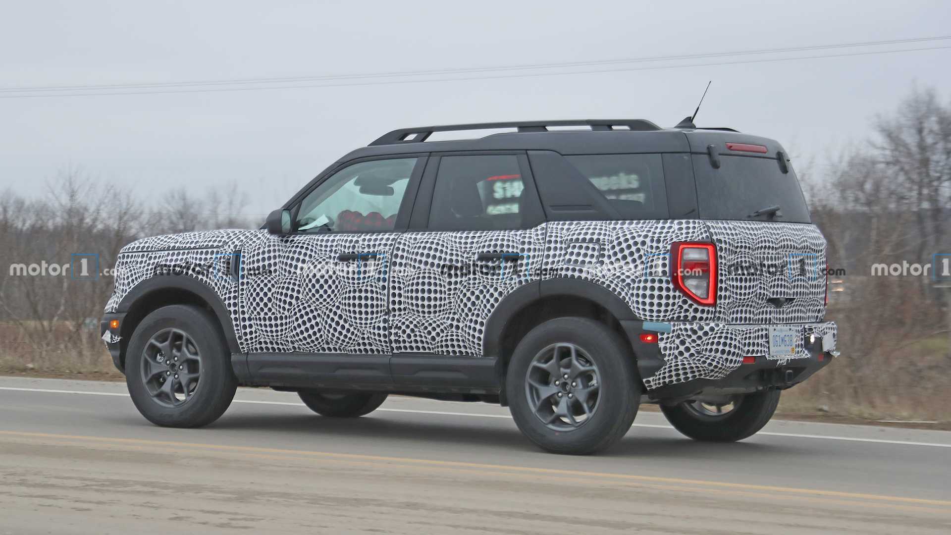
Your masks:
<svg viewBox="0 0 951 535"><path fill-rule="evenodd" d="M207 426L231 405L238 381L216 321L202 308L173 305L135 328L126 349L126 386L149 422Z"/></svg>

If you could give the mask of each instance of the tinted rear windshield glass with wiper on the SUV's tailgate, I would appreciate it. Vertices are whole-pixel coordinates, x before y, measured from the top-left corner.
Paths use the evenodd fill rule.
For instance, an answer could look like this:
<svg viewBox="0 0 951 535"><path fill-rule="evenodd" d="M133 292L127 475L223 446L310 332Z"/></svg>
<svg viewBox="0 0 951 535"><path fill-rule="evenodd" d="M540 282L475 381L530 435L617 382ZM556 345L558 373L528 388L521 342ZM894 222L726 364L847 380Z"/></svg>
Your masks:
<svg viewBox="0 0 951 535"><path fill-rule="evenodd" d="M707 155L693 155L697 205L703 219L809 223L803 191L796 173L784 173L775 158L720 156L720 168L710 165ZM776 217L757 210L780 207Z"/></svg>

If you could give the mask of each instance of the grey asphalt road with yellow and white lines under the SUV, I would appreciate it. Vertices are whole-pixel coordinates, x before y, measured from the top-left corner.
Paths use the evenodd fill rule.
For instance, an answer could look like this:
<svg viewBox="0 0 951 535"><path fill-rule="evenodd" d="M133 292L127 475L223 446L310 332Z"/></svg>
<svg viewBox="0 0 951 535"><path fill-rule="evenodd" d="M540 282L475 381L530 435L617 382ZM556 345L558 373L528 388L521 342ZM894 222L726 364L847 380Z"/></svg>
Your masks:
<svg viewBox="0 0 951 535"><path fill-rule="evenodd" d="M165 429L123 384L0 377L0 534L951 532L951 432L772 422L709 445L642 412L570 457L498 406L391 397L341 421L267 389L236 402Z"/></svg>

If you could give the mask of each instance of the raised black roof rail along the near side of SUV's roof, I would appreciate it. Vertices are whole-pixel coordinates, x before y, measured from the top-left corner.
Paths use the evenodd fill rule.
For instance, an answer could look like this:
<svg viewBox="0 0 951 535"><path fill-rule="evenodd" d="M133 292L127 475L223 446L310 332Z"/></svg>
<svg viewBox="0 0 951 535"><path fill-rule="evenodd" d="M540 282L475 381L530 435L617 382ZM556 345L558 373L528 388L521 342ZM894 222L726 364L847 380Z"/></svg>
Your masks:
<svg viewBox="0 0 951 535"><path fill-rule="evenodd" d="M386 132L370 144L392 145L395 143L421 143L433 132L482 129L518 129L520 132L546 132L548 127L591 127L592 130L611 130L613 127L627 127L631 130L659 130L657 125L645 119L577 119L558 121L514 121L509 123L473 123L469 125L443 125L439 127L419 127L417 129L396 129Z"/></svg>

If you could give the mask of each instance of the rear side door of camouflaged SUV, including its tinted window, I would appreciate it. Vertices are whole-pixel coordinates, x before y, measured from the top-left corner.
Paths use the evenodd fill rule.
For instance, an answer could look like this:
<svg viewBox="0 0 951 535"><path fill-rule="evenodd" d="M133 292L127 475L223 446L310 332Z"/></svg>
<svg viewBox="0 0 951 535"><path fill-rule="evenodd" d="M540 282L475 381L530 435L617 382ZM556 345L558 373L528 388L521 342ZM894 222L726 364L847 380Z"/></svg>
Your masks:
<svg viewBox="0 0 951 535"><path fill-rule="evenodd" d="M544 242L524 152L434 155L393 253L394 354L482 356L486 320L538 280Z"/></svg>

